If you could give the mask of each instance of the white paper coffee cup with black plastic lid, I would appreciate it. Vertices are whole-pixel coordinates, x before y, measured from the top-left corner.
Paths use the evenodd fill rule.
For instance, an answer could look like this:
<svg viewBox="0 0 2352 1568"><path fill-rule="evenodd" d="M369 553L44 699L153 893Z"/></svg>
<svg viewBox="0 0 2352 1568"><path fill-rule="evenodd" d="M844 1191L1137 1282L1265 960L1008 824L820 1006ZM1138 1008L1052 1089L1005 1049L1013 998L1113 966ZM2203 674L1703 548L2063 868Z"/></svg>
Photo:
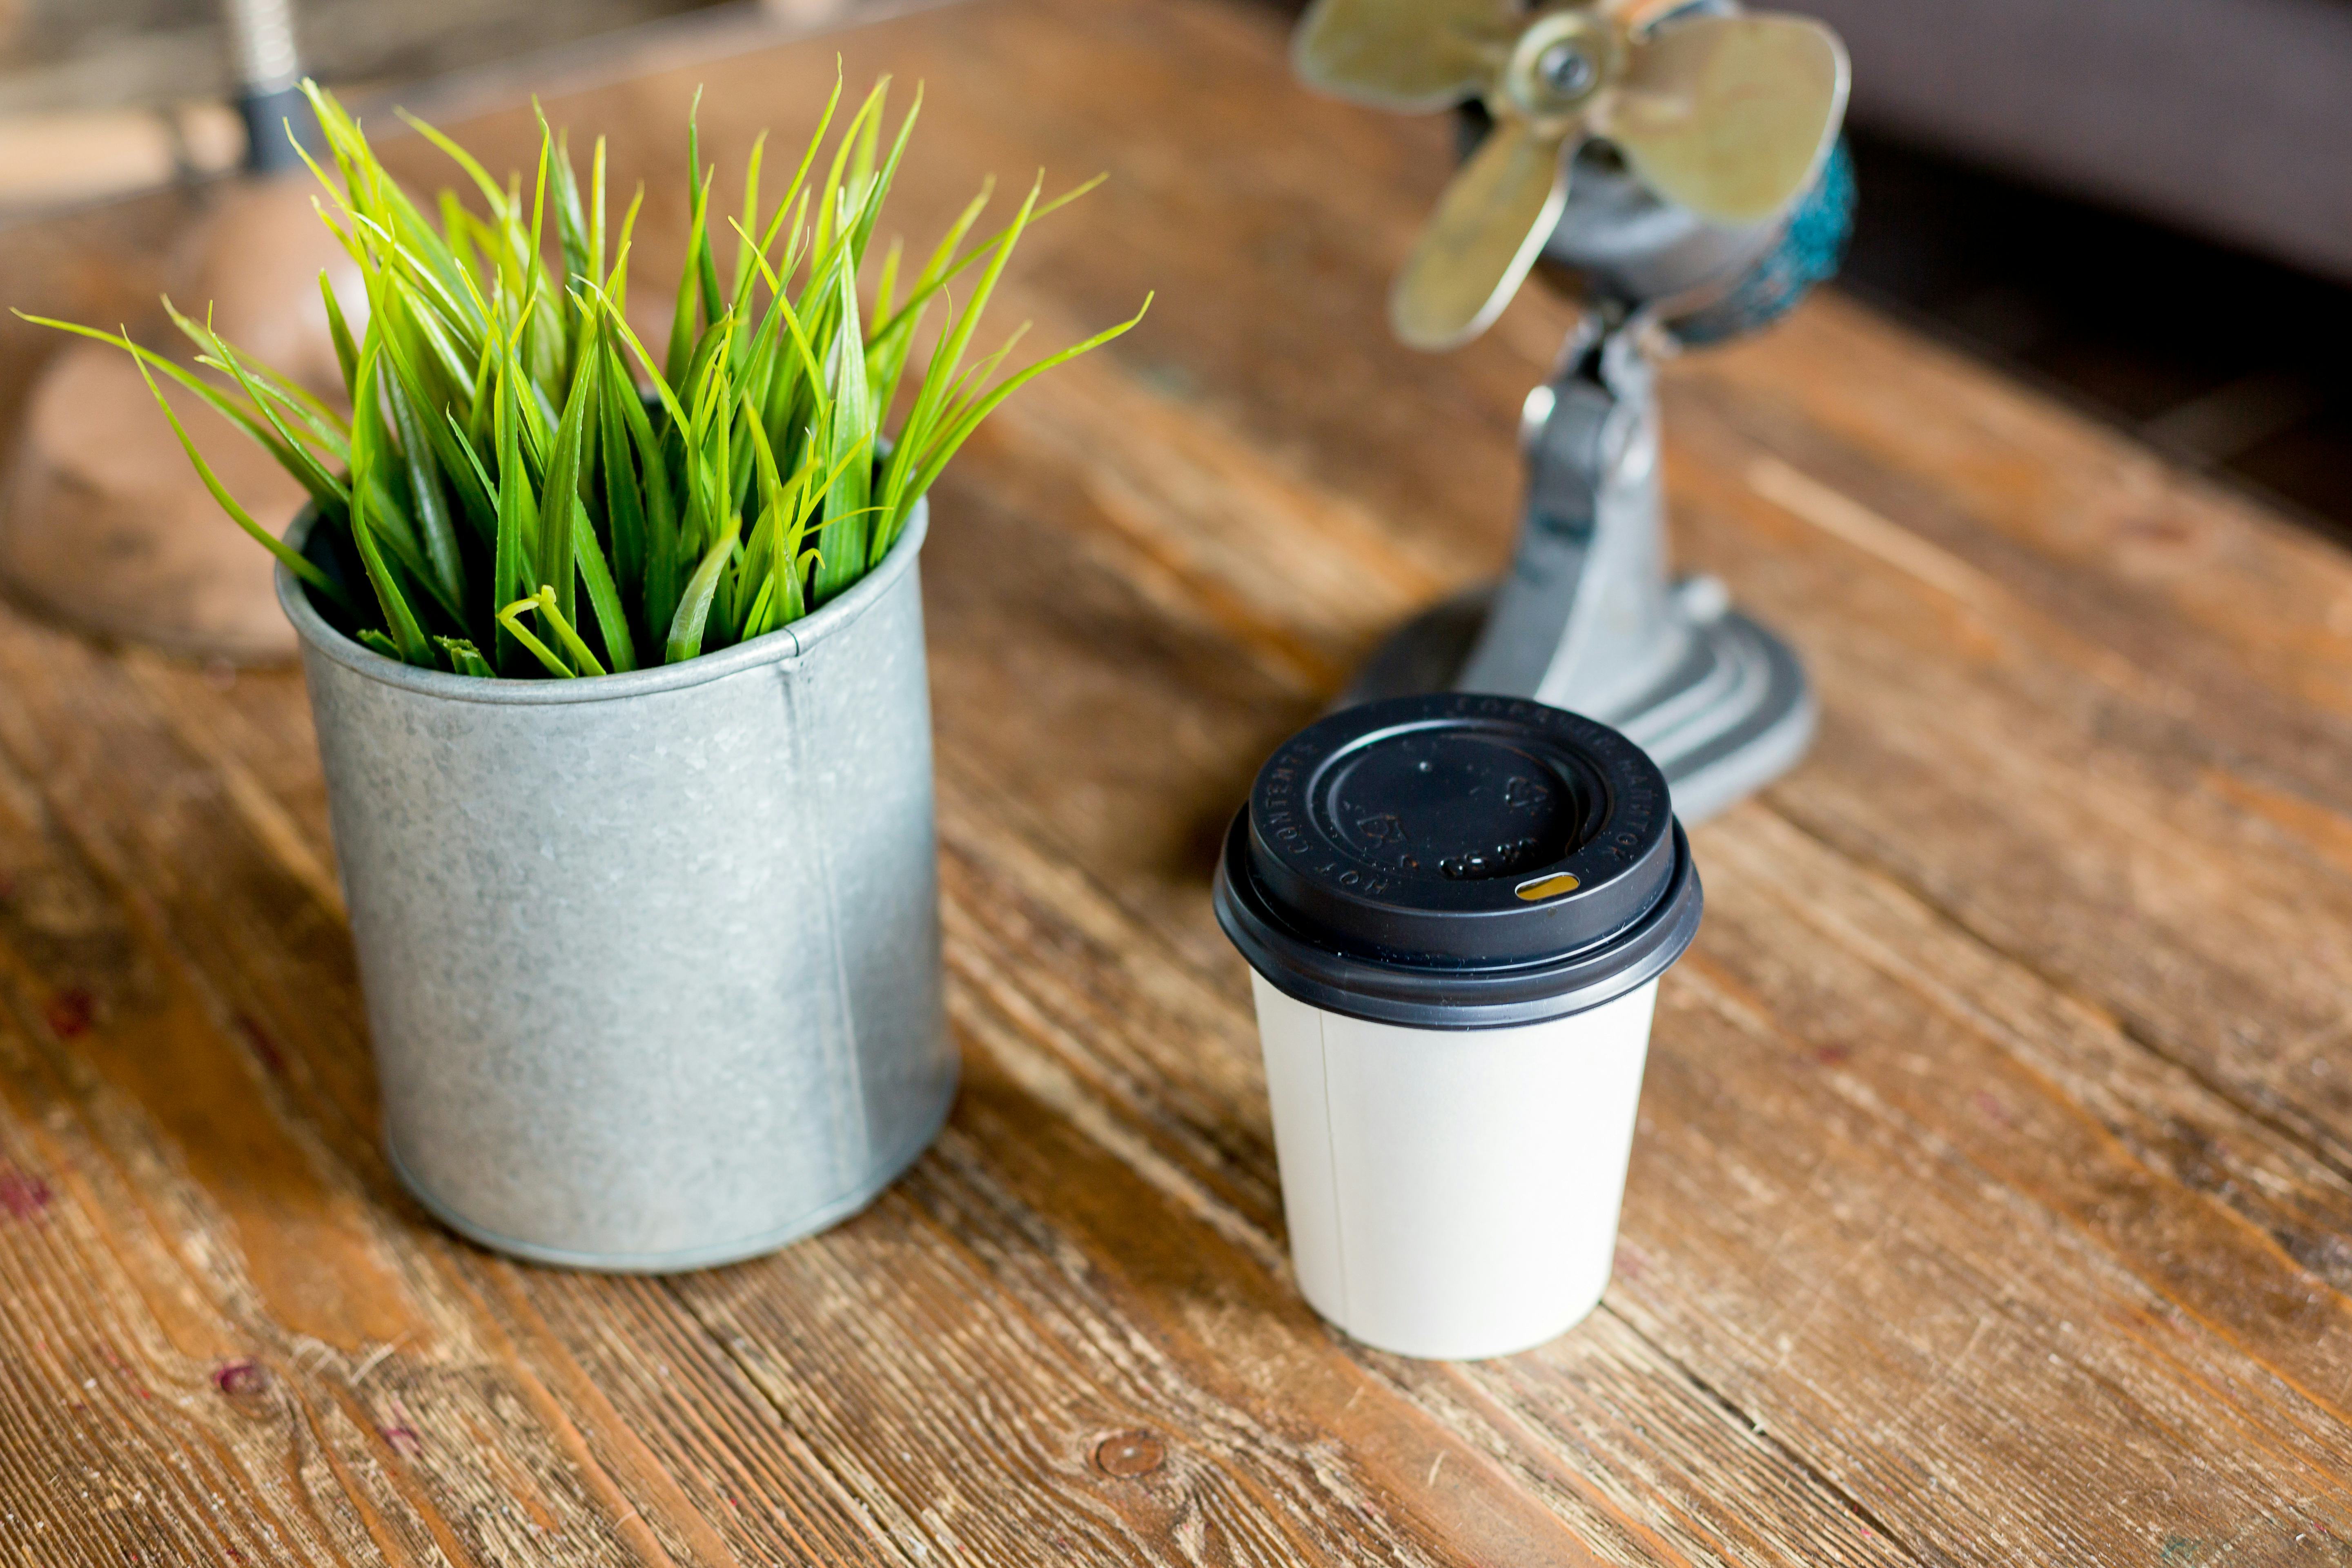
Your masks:
<svg viewBox="0 0 2352 1568"><path fill-rule="evenodd" d="M1251 961L1301 1293L1409 1356L1602 1298L1658 976L1700 891L1665 780L1538 703L1399 698L1284 745L1218 919Z"/></svg>

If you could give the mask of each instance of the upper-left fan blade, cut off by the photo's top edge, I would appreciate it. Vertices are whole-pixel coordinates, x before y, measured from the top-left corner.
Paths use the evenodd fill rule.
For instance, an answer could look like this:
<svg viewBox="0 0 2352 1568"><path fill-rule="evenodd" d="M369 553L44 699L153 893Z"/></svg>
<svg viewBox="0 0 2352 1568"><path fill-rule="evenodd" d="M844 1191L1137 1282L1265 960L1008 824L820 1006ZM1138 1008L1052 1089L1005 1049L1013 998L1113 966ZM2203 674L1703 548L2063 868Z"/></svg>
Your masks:
<svg viewBox="0 0 2352 1568"><path fill-rule="evenodd" d="M1291 63L1319 92L1435 113L1475 99L1515 33L1496 0L1315 0L1291 38Z"/></svg>

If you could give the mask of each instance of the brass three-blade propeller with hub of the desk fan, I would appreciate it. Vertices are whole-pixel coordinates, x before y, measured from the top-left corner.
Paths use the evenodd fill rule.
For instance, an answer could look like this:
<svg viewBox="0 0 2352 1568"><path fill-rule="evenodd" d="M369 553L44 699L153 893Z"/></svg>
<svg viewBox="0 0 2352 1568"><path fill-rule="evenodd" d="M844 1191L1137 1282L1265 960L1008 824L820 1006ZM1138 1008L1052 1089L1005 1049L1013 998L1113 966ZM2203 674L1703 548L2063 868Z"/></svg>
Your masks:
<svg viewBox="0 0 2352 1568"><path fill-rule="evenodd" d="M1465 343L1510 303L1588 139L1700 219L1759 223L1811 183L1846 106L1846 52L1818 21L1656 0L1315 0L1294 56L1310 87L1357 103L1482 99L1494 118L1390 294L1414 348Z"/></svg>

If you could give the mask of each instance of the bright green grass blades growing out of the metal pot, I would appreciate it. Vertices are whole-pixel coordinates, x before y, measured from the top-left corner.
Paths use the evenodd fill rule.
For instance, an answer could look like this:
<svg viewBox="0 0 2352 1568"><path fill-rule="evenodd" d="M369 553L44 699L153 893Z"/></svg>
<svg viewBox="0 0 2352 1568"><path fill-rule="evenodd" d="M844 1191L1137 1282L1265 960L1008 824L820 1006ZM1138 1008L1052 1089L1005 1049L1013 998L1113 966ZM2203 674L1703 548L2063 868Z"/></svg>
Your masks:
<svg viewBox="0 0 2352 1568"><path fill-rule="evenodd" d="M409 120L475 197L442 190L428 216L334 94L310 82L303 92L332 165L310 165L332 195L320 221L367 289L353 334L320 275L348 414L169 301L198 371L127 331L28 320L129 350L221 510L348 635L402 663L581 677L788 625L889 555L915 501L1004 397L1143 320L1138 310L1011 374L1018 331L974 350L1023 230L1094 183L1044 200L1042 176L988 237L974 240L983 188L920 266L891 242L870 303L861 299L922 108L917 92L884 139L889 78L837 134L835 82L774 200L762 200L762 136L741 214L724 223L717 169L703 165L689 115L687 261L659 360L626 315L644 190L619 226L607 221L602 139L583 186L567 139L541 115L536 174L501 186ZM266 447L310 494L322 538L296 552L261 527L198 451L158 374Z"/></svg>

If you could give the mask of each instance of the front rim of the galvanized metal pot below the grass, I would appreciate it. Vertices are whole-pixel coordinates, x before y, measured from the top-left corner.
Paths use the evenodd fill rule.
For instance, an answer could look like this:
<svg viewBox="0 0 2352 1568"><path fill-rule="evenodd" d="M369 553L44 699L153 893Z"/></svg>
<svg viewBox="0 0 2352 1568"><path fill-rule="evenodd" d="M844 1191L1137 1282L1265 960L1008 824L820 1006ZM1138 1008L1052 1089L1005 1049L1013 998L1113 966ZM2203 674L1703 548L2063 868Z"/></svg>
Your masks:
<svg viewBox="0 0 2352 1568"><path fill-rule="evenodd" d="M315 512L303 508L294 517L292 527L287 527L285 541L301 550L313 520ZM677 665L628 670L623 675L583 675L579 679L485 679L480 675L419 670L416 665L405 665L397 658L374 654L327 625L327 618L318 614L310 604L310 595L303 592L301 583L292 571L287 571L285 562L278 564L278 609L282 609L287 621L294 623L294 635L301 637L306 646L318 649L353 675L365 675L367 679L383 682L386 686L416 691L419 696L437 696L454 703L609 703L633 696L652 696L656 691L701 686L703 682L724 679L743 670L755 670L786 658L800 658L811 646L873 609L882 595L889 592L891 583L913 571L915 555L922 550L922 538L929 527L931 498L917 496L915 508L908 512L906 531L898 534L898 543L894 543L889 555L882 557L882 564L851 583L849 592L833 599L823 609L811 611L790 625L781 625L764 637L753 637L750 642L739 642L731 649L720 649L717 654L703 654Z"/></svg>

